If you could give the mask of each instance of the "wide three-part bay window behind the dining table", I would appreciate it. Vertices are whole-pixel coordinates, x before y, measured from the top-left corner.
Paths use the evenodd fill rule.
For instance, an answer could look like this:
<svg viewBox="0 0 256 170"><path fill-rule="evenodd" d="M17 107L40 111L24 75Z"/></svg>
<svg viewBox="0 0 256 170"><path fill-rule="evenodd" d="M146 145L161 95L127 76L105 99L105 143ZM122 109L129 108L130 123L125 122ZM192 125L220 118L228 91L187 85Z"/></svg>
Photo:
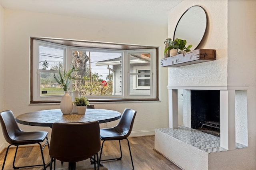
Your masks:
<svg viewBox="0 0 256 170"><path fill-rule="evenodd" d="M32 38L31 103L59 102L64 91L53 76L59 69L69 70L71 64L79 71L74 72L77 79L69 91L80 91L90 101L158 99L156 47L116 49L118 44L102 43L101 47L109 48L99 48L98 43L83 47L85 42L70 46L72 40L50 41Z"/></svg>

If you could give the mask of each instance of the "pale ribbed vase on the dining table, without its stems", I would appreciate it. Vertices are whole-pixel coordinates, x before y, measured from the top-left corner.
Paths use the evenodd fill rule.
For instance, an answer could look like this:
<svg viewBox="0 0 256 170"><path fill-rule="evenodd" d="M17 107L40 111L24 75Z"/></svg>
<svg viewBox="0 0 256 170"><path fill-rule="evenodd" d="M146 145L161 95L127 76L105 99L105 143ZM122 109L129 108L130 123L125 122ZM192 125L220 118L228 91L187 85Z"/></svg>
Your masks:
<svg viewBox="0 0 256 170"><path fill-rule="evenodd" d="M68 94L67 91L65 91L65 94L62 96L60 101L60 110L63 114L70 114L73 109L73 103L72 98Z"/></svg>

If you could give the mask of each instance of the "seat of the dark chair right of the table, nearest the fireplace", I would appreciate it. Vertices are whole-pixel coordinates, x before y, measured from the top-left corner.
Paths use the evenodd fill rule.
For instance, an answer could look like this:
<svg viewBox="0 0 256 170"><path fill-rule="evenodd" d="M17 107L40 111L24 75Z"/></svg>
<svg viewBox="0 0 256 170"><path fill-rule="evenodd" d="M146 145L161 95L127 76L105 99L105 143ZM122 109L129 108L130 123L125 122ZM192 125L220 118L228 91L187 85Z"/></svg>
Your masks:
<svg viewBox="0 0 256 170"><path fill-rule="evenodd" d="M102 128L100 129L101 140L122 140L126 138L127 132L118 130L118 128Z"/></svg>

